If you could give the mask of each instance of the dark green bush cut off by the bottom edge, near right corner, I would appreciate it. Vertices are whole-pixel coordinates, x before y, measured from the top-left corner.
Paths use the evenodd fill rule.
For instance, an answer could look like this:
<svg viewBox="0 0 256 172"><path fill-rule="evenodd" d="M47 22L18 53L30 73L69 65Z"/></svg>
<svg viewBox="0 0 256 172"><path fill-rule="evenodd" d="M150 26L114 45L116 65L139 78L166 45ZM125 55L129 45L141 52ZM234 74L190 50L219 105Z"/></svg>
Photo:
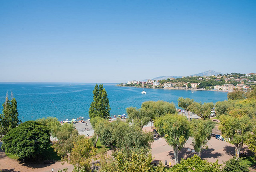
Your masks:
<svg viewBox="0 0 256 172"><path fill-rule="evenodd" d="M250 172L248 166L242 163L242 159L231 158L223 168L223 172Z"/></svg>

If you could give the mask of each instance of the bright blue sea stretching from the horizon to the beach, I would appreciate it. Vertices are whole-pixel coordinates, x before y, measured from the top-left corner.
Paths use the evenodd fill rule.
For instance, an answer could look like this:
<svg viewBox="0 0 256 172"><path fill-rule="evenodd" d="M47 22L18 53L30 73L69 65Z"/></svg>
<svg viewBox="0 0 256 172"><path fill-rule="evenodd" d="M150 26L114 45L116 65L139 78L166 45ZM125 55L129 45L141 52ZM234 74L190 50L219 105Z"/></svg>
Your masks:
<svg viewBox="0 0 256 172"><path fill-rule="evenodd" d="M22 122L47 116L58 120L78 118L88 119L88 110L93 100L95 83L0 83L0 104L5 101L6 92L13 93L18 102L19 118ZM227 99L227 93L214 91L163 90L117 87L104 84L110 103L110 114L125 114L126 108L140 108L144 101L164 100L174 102L178 108L178 98L192 98L198 102L218 102ZM2 113L2 112L1 112Z"/></svg>

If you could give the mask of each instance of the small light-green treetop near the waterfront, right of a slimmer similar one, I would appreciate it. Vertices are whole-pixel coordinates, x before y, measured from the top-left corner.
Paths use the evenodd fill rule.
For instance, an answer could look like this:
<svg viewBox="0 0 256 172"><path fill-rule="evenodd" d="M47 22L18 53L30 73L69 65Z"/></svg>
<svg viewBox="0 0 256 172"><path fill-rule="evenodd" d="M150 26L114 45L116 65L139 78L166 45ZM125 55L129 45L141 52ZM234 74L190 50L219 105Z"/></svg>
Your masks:
<svg viewBox="0 0 256 172"><path fill-rule="evenodd" d="M190 105L190 111L194 112L201 118L205 119L210 119L211 111L212 108L214 107L213 103L204 103L202 104L201 102L193 102L193 104Z"/></svg>

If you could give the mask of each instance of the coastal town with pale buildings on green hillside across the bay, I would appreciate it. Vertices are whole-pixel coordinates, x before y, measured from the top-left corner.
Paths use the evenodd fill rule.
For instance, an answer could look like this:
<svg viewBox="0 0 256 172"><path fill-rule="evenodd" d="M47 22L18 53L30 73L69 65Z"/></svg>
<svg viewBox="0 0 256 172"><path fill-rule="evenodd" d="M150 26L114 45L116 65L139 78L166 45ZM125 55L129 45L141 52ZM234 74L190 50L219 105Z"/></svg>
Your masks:
<svg viewBox="0 0 256 172"><path fill-rule="evenodd" d="M231 92L233 90L247 91L250 85L256 84L256 73L218 74L217 76L183 76L182 78L167 78L166 80L128 81L118 86L141 88L160 88L176 90L214 90Z"/></svg>

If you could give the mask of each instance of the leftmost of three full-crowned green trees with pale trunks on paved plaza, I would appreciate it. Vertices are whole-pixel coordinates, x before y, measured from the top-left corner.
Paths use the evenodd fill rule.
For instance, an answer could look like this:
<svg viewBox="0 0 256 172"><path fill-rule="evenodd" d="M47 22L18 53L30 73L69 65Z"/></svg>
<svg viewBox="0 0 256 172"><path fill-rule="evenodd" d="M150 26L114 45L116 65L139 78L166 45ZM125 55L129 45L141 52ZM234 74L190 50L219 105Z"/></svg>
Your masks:
<svg viewBox="0 0 256 172"><path fill-rule="evenodd" d="M159 134L164 135L166 142L174 149L175 163L178 163L178 150L183 148L191 136L191 127L185 116L178 114L159 117L154 125Z"/></svg>

